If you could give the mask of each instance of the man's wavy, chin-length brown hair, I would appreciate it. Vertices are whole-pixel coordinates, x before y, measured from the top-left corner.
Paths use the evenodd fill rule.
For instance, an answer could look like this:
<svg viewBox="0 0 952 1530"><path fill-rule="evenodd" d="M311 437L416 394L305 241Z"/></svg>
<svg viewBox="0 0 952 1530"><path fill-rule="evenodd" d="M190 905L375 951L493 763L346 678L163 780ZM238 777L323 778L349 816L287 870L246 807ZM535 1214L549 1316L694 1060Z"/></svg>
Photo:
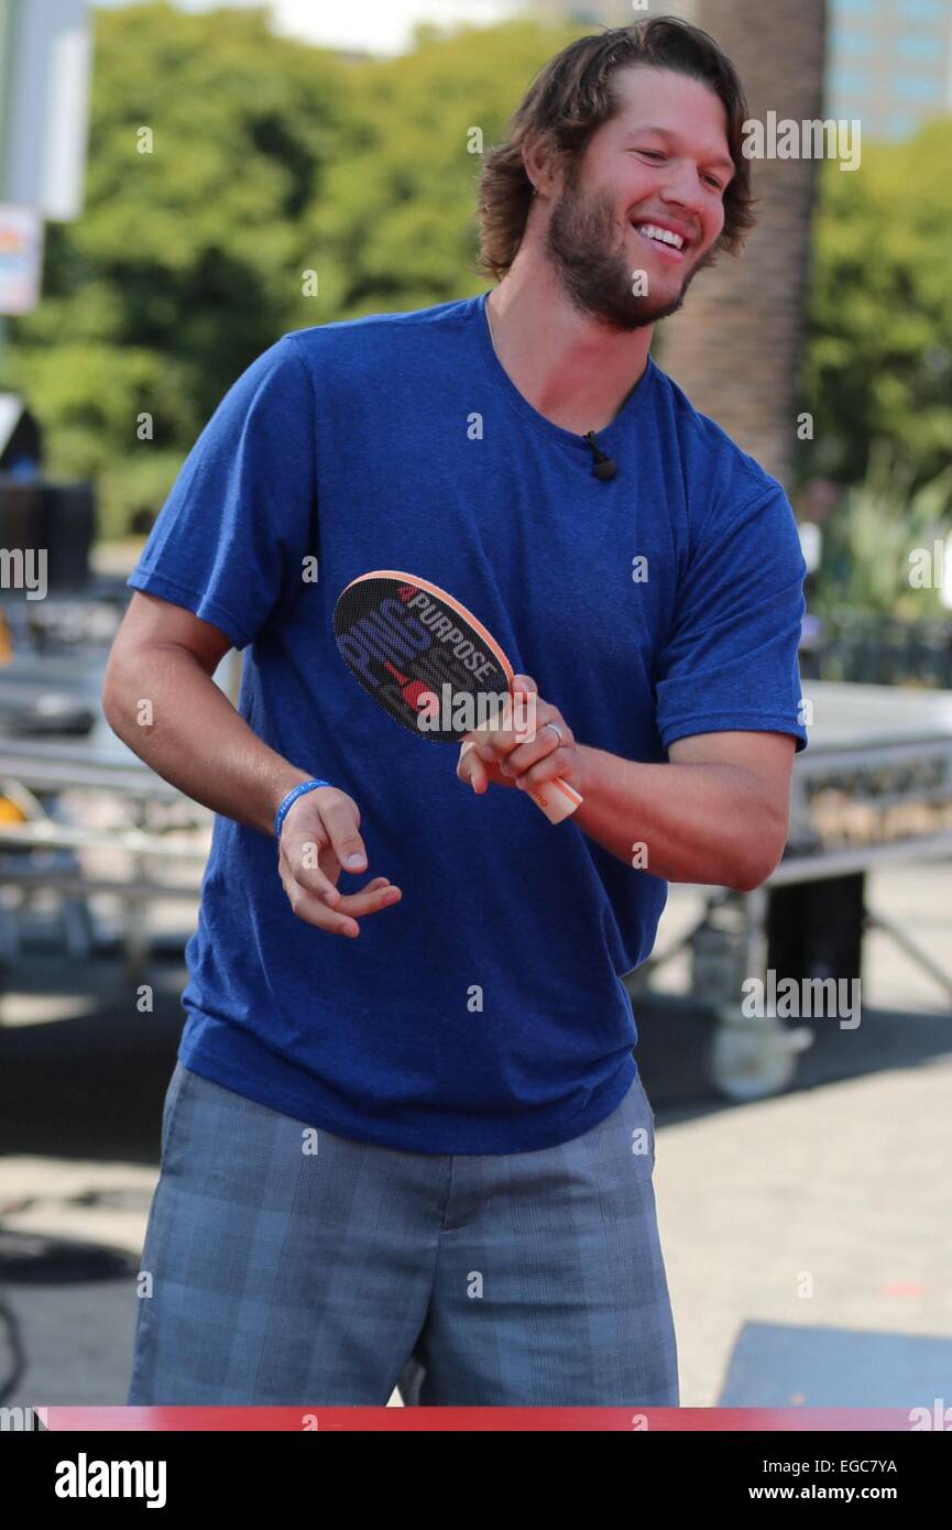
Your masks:
<svg viewBox="0 0 952 1530"><path fill-rule="evenodd" d="M522 243L534 196L522 159L523 148L542 142L577 168L597 127L617 115L620 103L612 78L618 69L652 64L699 80L721 98L727 113L727 142L735 176L724 193L724 230L716 249L739 254L744 234L755 225L750 161L741 145L747 99L738 73L713 37L658 15L575 38L549 58L527 90L507 129L507 142L488 150L479 177L481 271L497 282L507 274Z"/></svg>

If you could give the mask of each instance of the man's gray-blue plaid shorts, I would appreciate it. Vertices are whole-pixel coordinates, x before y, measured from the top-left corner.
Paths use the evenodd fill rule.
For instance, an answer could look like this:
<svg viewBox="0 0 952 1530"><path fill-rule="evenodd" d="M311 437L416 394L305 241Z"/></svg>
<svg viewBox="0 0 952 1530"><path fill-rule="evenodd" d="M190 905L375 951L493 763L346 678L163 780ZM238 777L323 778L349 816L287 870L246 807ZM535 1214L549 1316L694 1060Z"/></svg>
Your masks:
<svg viewBox="0 0 952 1530"><path fill-rule="evenodd" d="M176 1063L130 1405L678 1406L635 1079L537 1152L335 1137Z"/></svg>

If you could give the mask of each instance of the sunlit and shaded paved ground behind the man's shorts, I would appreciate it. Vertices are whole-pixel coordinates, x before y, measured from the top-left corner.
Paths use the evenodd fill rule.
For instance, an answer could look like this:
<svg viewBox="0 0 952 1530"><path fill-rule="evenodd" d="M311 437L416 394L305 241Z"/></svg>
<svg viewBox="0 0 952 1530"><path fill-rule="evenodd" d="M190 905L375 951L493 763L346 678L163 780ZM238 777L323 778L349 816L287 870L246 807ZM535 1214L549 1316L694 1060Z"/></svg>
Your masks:
<svg viewBox="0 0 952 1530"><path fill-rule="evenodd" d="M868 901L952 970L952 868L889 868L871 878ZM672 889L660 946L696 910L692 889ZM161 923L179 916L168 912ZM0 1388L14 1380L6 1403L124 1401L132 1274L181 1030L179 964L156 961L150 976L156 1010L142 1016L118 962L80 967L32 955L8 975ZM675 962L664 982L677 990L684 979L686 964ZM846 1359L837 1348L843 1333L866 1354L874 1336L944 1340L944 1348L906 1342L903 1354L918 1366L924 1403L952 1401L949 996L883 933L871 933L860 1028L820 1025L794 1088L744 1106L719 1100L704 1082L710 1028L699 1016L638 1008L683 1403L722 1397L738 1345L747 1371L735 1365L729 1400L758 1400L765 1368L758 1345L782 1345L787 1328L802 1336L787 1345L787 1368L778 1362L788 1401L819 1400L805 1330L828 1330L819 1346L823 1385L842 1386L842 1401L860 1385L857 1351ZM868 1382L863 1395L905 1403L900 1360L894 1380L886 1349L875 1354L872 1386L882 1395L872 1397Z"/></svg>

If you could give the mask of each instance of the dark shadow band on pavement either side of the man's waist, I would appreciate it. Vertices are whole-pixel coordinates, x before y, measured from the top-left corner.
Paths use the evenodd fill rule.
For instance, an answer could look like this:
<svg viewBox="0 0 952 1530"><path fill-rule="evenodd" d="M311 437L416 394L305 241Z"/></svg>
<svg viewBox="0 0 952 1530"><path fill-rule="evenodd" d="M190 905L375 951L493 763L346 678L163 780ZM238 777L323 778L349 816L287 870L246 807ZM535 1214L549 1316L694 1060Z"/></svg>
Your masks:
<svg viewBox="0 0 952 1530"><path fill-rule="evenodd" d="M31 955L8 968L0 998L0 1154L107 1160L158 1166L165 1089L184 1025L181 961L153 961L152 1013L112 959ZM6 1024L23 996L75 999L73 1017ZM87 1013L83 1013L87 1011ZM709 1082L713 1019L686 1001L635 1001L637 1059L660 1126L741 1109ZM755 1022L756 1024L756 1022ZM949 1011L863 1010L856 1030L836 1019L804 1022L814 1042L799 1057L787 1092L892 1068L915 1068L952 1053ZM758 1102L759 1103L759 1102Z"/></svg>

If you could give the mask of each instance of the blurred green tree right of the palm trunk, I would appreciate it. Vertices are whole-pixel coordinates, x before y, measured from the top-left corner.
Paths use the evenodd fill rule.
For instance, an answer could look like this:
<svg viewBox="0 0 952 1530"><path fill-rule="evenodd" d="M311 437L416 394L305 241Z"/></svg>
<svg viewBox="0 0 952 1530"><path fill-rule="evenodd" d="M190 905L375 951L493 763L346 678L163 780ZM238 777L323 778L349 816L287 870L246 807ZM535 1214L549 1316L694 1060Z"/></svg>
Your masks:
<svg viewBox="0 0 952 1530"><path fill-rule="evenodd" d="M811 470L857 482L872 441L934 479L952 454L952 118L823 167L810 304Z"/></svg>

